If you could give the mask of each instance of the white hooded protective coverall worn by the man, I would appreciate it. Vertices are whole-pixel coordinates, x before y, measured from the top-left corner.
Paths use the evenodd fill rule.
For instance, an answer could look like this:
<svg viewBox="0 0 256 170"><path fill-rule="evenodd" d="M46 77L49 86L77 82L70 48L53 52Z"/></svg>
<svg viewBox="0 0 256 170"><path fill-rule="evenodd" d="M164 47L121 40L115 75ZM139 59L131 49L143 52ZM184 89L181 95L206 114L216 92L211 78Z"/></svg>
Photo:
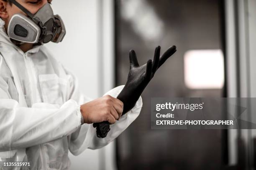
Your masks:
<svg viewBox="0 0 256 170"><path fill-rule="evenodd" d="M5 33L0 19L0 158L30 161L32 170L66 170L68 152L101 148L113 141L136 117L135 107L110 125L106 138L97 138L92 124L81 125L85 98L74 75L43 45L24 53ZM117 97L123 86L107 94ZM28 168L20 168L28 169Z"/></svg>

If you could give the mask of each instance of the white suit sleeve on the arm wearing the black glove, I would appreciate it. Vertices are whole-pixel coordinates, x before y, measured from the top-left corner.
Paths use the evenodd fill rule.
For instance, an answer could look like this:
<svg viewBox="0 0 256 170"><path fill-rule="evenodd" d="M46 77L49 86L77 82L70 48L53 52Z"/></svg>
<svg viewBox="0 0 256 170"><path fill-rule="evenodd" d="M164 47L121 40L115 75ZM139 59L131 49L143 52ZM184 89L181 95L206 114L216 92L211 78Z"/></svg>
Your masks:
<svg viewBox="0 0 256 170"><path fill-rule="evenodd" d="M67 71L69 81L71 85L70 99L77 101L80 105L91 101L89 98L84 97L79 92L77 79L70 72ZM111 95L117 97L122 91L124 85L115 87L114 89L107 92L105 95ZM73 155L79 155L85 149L99 149L108 145L111 141L117 138L129 125L138 117L141 112L142 99L141 97L136 102L136 105L132 110L123 115L120 120L116 121L115 124L110 125L110 131L106 138L98 138L96 135L96 128L92 127L92 124L83 124L74 133L68 136L69 150Z"/></svg>

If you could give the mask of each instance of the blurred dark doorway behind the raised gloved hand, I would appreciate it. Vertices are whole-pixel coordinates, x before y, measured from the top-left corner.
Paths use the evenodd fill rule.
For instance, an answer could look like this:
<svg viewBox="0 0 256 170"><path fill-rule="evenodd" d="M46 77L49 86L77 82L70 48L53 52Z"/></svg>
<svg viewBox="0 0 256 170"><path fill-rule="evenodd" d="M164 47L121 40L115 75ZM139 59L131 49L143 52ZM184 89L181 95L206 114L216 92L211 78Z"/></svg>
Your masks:
<svg viewBox="0 0 256 170"><path fill-rule="evenodd" d="M119 170L218 170L223 164L224 130L151 130L151 97L224 97L223 87L190 88L184 55L189 50L223 49L222 0L116 0L116 85L126 82L129 50L138 61L154 48L177 53L143 93L140 116L117 139ZM202 70L203 72L204 70ZM224 94L225 95L225 94Z"/></svg>

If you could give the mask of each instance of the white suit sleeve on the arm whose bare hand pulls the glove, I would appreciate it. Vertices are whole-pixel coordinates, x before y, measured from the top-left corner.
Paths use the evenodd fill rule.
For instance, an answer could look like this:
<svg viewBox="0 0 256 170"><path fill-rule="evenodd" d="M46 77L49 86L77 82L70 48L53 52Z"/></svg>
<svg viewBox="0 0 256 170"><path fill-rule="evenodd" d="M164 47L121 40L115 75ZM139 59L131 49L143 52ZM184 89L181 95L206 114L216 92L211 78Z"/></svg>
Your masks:
<svg viewBox="0 0 256 170"><path fill-rule="evenodd" d="M0 77L0 152L28 148L68 136L81 126L80 105L36 103L20 107Z"/></svg>

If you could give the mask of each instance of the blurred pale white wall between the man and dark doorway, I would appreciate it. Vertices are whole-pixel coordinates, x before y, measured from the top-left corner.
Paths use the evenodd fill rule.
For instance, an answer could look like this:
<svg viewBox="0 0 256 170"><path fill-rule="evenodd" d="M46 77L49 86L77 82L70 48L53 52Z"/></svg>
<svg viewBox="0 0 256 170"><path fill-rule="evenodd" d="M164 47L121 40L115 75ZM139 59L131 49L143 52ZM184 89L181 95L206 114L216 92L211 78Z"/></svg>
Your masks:
<svg viewBox="0 0 256 170"><path fill-rule="evenodd" d="M54 57L79 80L81 92L92 99L114 86L112 0L53 0L55 14L64 20L67 35L59 44L49 43ZM100 150L69 153L71 170L115 169L114 143ZM108 155L108 156L105 156Z"/></svg>

